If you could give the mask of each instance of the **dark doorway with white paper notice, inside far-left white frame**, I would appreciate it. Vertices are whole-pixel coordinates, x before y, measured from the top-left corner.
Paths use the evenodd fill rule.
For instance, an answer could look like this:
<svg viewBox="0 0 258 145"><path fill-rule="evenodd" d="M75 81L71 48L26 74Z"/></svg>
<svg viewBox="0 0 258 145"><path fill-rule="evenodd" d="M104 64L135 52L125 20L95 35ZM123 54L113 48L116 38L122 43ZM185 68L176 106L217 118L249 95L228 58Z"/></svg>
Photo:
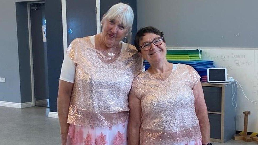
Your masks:
<svg viewBox="0 0 258 145"><path fill-rule="evenodd" d="M45 4L30 4L35 106L49 107Z"/></svg>

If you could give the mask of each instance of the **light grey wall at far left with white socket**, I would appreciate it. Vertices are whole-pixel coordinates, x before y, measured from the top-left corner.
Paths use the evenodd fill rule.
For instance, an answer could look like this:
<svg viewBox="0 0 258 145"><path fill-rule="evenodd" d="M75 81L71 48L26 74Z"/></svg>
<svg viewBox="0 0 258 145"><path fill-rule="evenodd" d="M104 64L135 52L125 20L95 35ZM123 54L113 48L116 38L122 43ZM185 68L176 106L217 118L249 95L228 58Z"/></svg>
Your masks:
<svg viewBox="0 0 258 145"><path fill-rule="evenodd" d="M15 2L0 1L0 101L21 102Z"/></svg>

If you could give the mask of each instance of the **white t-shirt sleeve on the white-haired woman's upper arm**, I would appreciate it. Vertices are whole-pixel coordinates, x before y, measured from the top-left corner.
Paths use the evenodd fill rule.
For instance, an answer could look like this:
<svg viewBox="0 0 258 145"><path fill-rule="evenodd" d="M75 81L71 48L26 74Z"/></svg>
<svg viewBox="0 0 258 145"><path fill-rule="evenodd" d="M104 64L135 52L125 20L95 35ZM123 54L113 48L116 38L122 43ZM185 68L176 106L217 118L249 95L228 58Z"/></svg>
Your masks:
<svg viewBox="0 0 258 145"><path fill-rule="evenodd" d="M62 64L60 78L63 81L73 83L75 78L76 63L66 55Z"/></svg>

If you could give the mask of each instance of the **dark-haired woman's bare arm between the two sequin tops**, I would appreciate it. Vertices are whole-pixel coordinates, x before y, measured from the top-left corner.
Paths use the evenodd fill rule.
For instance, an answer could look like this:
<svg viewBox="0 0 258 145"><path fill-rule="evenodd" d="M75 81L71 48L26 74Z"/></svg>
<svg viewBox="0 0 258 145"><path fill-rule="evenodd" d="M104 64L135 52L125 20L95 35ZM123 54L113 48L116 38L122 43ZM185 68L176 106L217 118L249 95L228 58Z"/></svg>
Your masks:
<svg viewBox="0 0 258 145"><path fill-rule="evenodd" d="M132 93L129 94L129 107L128 145L138 145L140 143L141 101Z"/></svg>

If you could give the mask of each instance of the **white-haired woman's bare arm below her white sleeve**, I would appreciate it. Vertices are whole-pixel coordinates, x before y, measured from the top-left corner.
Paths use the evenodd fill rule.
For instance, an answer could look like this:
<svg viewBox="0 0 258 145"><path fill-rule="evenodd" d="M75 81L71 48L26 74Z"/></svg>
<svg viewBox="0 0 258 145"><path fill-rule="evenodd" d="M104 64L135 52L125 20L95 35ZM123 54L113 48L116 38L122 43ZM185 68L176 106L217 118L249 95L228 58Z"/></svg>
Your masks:
<svg viewBox="0 0 258 145"><path fill-rule="evenodd" d="M67 123L68 109L70 105L70 97L73 89L73 83L59 80L58 96L57 96L57 113L60 123L60 134L62 145L66 145L69 124Z"/></svg>

